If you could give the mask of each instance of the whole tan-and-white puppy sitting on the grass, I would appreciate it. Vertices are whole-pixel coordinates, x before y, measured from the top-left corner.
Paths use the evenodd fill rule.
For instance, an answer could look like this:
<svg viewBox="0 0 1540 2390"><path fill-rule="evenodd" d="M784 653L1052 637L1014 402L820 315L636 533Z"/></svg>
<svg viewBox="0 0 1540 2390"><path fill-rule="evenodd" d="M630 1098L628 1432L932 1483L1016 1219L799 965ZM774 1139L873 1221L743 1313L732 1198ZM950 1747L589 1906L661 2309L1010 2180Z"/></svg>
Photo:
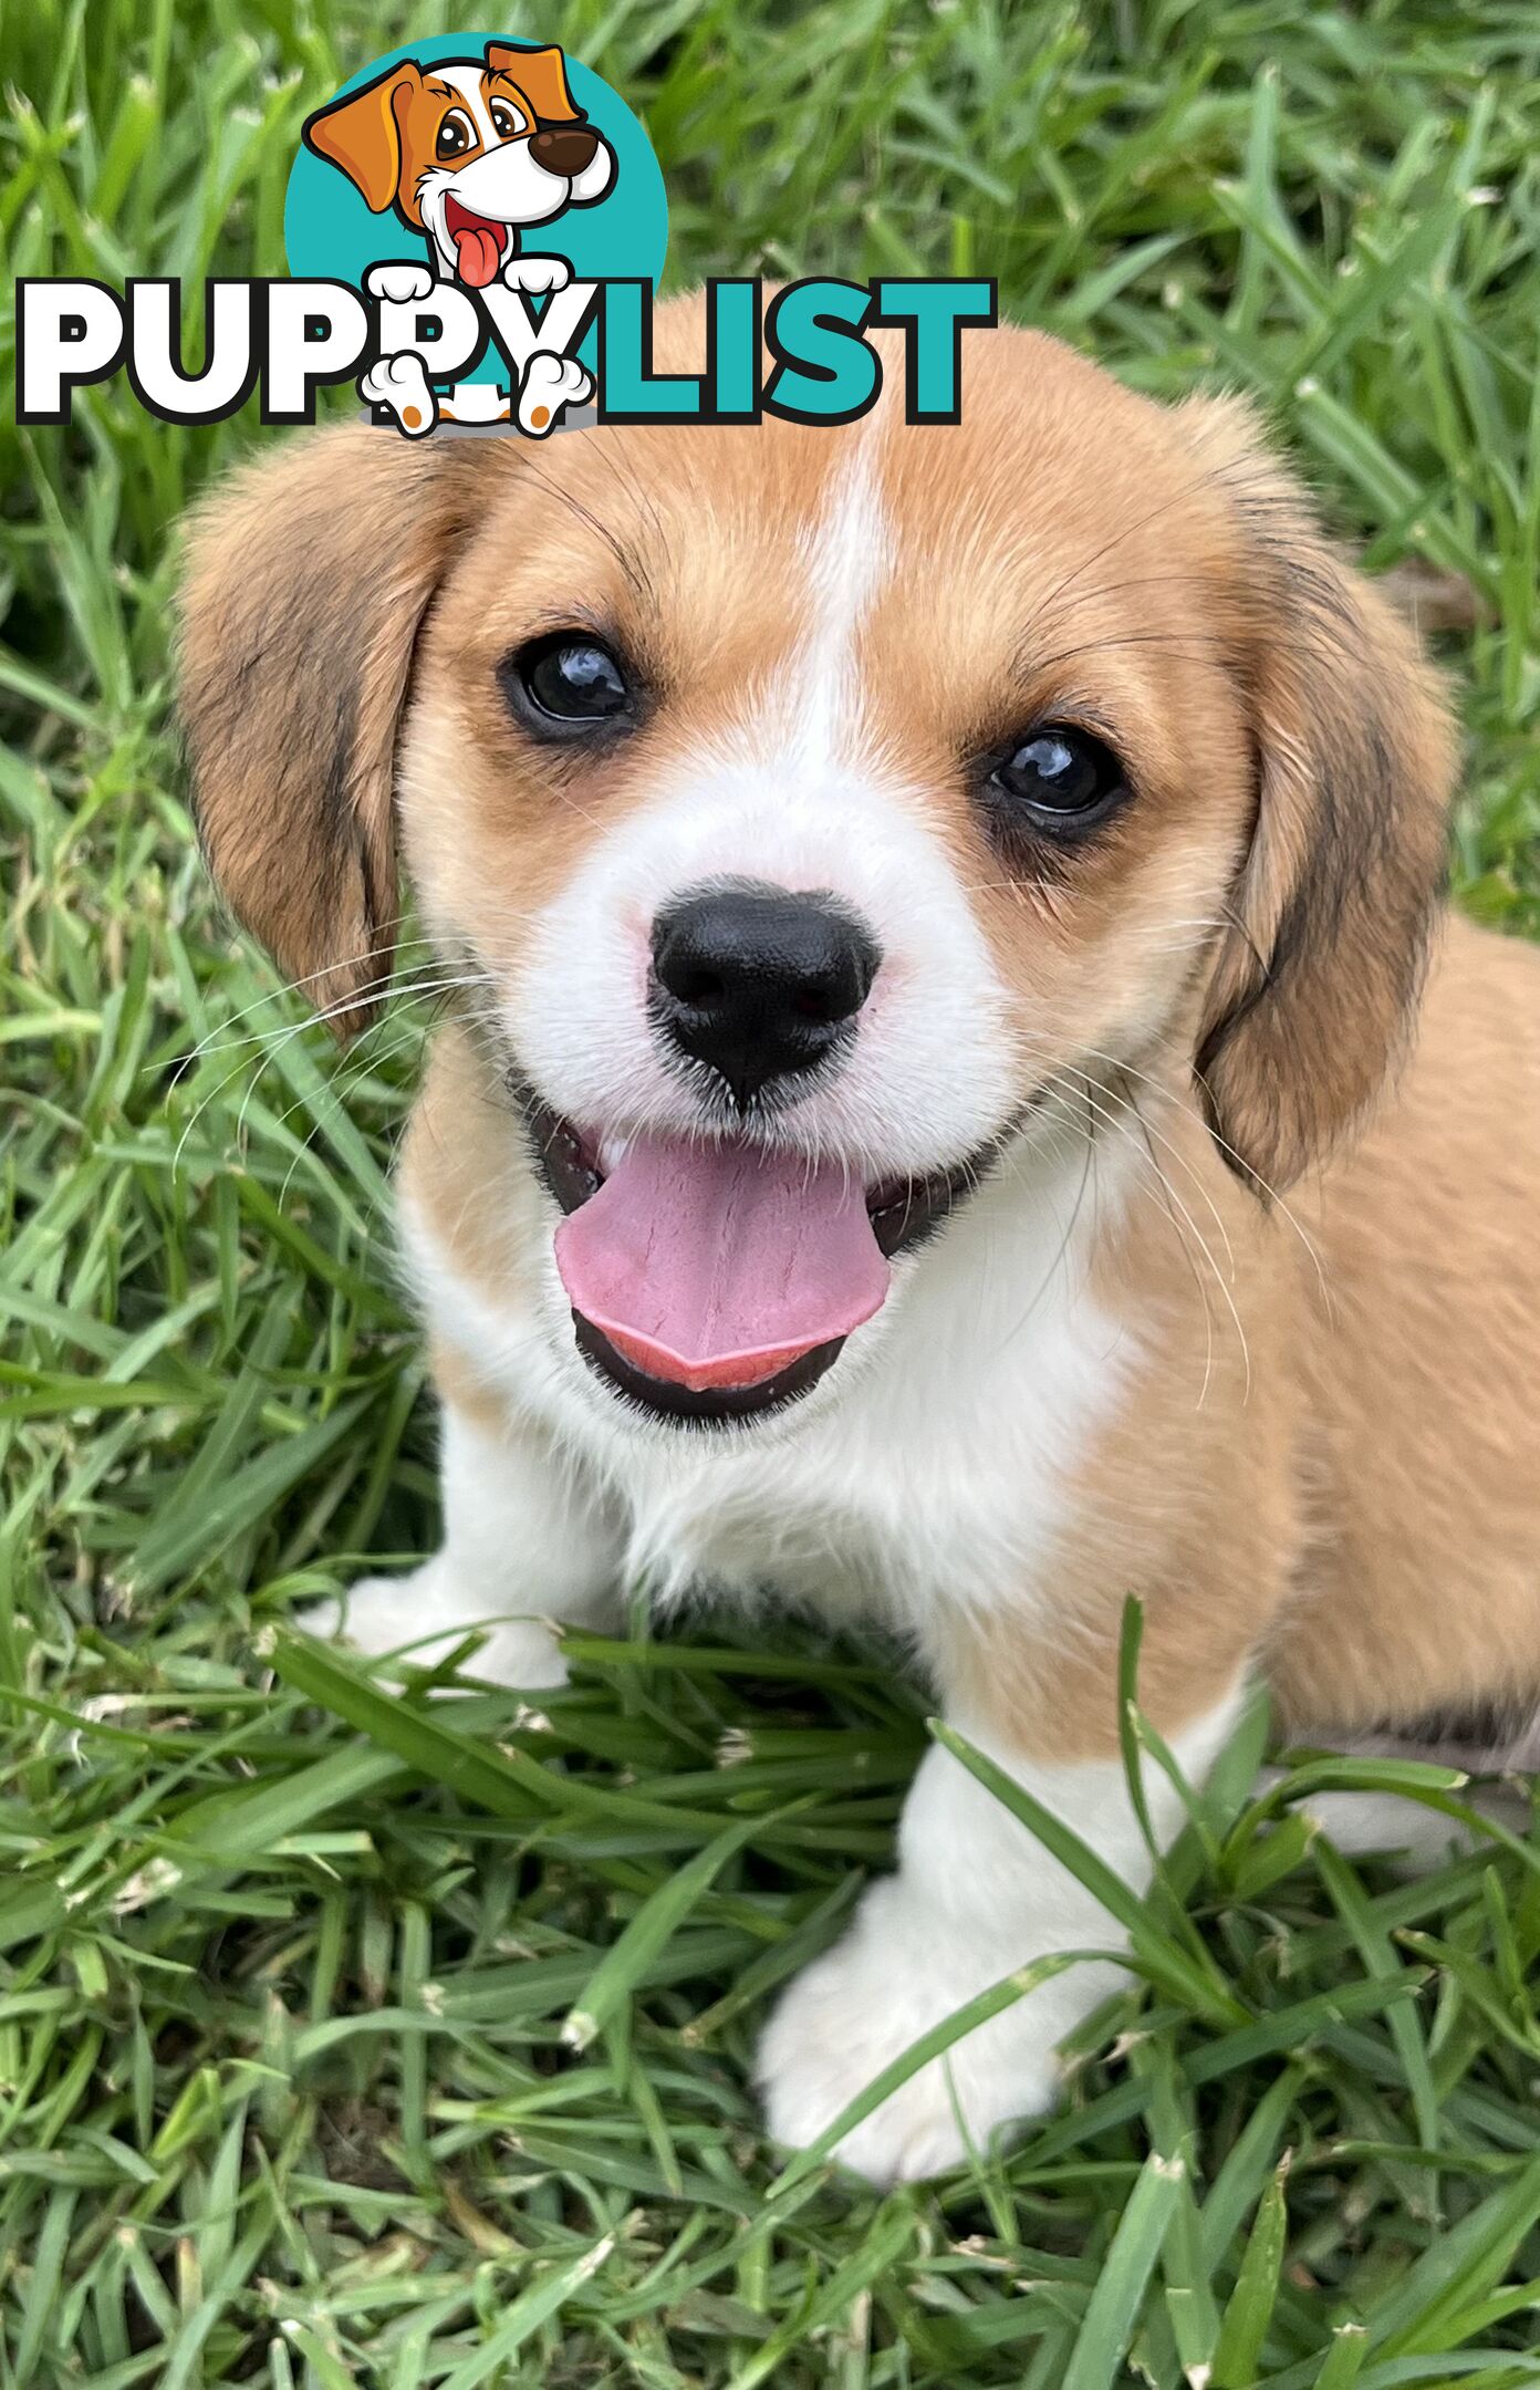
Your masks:
<svg viewBox="0 0 1540 2390"><path fill-rule="evenodd" d="M660 368L701 337L662 311ZM885 363L842 430L246 471L191 538L198 820L340 1035L399 863L454 992L399 1171L445 1544L352 1640L485 1623L533 1687L540 1613L641 1580L875 1616L1143 1886L1129 1594L1191 1781L1253 1673L1310 1740L1535 1721L1540 956L1444 913L1440 688L1246 406L997 330L909 428ZM772 2134L1112 1938L935 1747L770 2020ZM1055 1974L842 2153L1043 2110L1114 1984Z"/></svg>

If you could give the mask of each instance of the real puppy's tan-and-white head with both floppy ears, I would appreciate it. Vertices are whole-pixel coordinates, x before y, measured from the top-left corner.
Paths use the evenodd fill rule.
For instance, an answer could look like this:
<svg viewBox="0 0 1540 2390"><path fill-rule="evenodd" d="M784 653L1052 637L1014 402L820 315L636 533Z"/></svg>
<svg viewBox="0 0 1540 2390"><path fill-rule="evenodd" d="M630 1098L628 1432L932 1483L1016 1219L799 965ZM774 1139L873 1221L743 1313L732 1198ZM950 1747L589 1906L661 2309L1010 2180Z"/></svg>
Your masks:
<svg viewBox="0 0 1540 2390"><path fill-rule="evenodd" d="M696 339L665 311L660 370ZM1177 1056L1289 1185L1444 868L1430 679L1246 411L1028 332L949 428L299 442L194 538L184 712L218 877L349 1025L399 839L552 1197L552 1336L670 1417L811 1386L1119 1071Z"/></svg>

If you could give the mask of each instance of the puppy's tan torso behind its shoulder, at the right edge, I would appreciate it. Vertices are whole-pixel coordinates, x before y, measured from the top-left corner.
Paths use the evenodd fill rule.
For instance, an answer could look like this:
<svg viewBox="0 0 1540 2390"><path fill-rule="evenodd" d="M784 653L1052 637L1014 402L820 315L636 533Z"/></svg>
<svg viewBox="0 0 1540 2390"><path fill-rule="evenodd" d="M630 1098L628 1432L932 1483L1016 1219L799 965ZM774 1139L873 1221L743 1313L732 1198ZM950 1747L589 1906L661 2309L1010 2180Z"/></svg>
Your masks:
<svg viewBox="0 0 1540 2390"><path fill-rule="evenodd" d="M1296 1726L1540 1695L1540 956L1452 920L1404 1085L1298 1202L1308 1565L1272 1637Z"/></svg>

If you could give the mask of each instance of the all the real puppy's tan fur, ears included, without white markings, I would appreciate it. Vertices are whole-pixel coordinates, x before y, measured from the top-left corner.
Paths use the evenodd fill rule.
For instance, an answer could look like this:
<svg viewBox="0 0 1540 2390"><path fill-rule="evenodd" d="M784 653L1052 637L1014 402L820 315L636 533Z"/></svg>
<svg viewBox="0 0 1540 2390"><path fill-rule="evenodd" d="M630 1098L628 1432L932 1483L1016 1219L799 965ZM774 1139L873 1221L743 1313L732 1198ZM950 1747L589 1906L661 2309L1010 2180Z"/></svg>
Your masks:
<svg viewBox="0 0 1540 2390"><path fill-rule="evenodd" d="M655 363L698 361L682 301ZM1533 1702L1540 956L1452 923L1418 999L1447 712L1241 409L1167 413L1000 332L968 347L959 428L885 402L839 435L583 433L538 468L519 442L421 466L371 430L301 442L194 545L187 712L232 903L289 968L368 985L344 954L378 956L395 911L411 695L399 836L423 920L505 978L641 774L787 672L784 593L854 440L878 442L913 559L861 626L870 719L928 791L1033 1068L1136 1104L1150 1138L1148 1200L1095 1262L1138 1367L1074 1484L1055 1632L959 1625L949 1680L1026 1752L1107 1752L1138 1594L1167 1733L1253 1654L1294 1730ZM497 693L509 648L574 621L655 691L624 755L536 758ZM990 844L968 758L1047 715L1102 727L1138 791L1038 870ZM531 1197L495 1193L519 1133L478 1037L466 1018L438 1047L407 1185L497 1288Z"/></svg>

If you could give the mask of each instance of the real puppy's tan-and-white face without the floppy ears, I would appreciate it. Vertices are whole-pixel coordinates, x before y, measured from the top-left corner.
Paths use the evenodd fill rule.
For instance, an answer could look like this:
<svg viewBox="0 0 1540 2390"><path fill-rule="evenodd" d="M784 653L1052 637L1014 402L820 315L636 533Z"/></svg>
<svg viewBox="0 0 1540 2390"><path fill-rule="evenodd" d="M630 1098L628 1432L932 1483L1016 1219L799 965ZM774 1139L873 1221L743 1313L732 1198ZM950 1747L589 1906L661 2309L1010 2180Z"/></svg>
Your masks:
<svg viewBox="0 0 1540 2390"><path fill-rule="evenodd" d="M1040 358L1026 488L1019 375L930 433L607 433L428 626L409 872L579 1205L588 1350L658 1408L806 1384L1212 944L1251 789L1222 511L1165 418Z"/></svg>

